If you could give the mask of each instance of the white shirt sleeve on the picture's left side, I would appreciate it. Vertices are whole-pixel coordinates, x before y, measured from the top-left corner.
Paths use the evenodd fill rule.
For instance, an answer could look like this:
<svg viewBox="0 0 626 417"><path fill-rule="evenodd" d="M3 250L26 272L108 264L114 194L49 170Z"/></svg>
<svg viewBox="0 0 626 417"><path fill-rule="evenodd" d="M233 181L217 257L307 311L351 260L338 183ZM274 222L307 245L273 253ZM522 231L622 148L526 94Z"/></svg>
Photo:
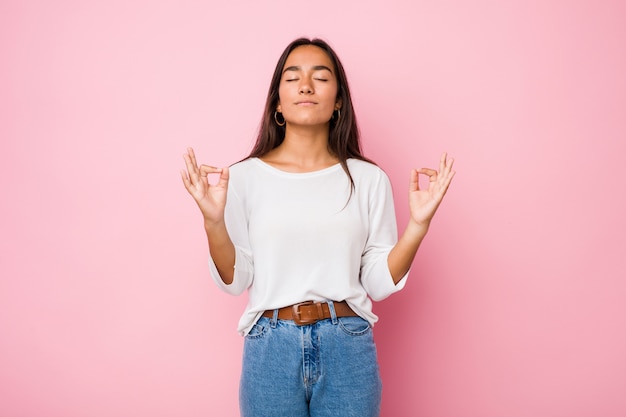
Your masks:
<svg viewBox="0 0 626 417"><path fill-rule="evenodd" d="M254 263L248 238L248 218L245 206L233 186L228 187L224 222L226 223L228 236L235 246L235 274L233 282L225 284L222 281L222 277L217 271L215 261L211 258L211 255L209 255L209 270L211 277L221 290L232 295L239 295L252 284Z"/></svg>

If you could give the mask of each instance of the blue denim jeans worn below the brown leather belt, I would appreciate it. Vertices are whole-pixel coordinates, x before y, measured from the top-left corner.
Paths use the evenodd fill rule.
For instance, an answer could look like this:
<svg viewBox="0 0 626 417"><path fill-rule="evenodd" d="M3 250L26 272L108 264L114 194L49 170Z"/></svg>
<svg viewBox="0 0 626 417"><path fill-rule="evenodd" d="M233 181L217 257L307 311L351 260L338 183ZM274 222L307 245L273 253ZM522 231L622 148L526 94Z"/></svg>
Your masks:
<svg viewBox="0 0 626 417"><path fill-rule="evenodd" d="M254 325L244 342L242 417L380 415L372 328L330 310L330 319L304 326L276 319L277 311Z"/></svg>

